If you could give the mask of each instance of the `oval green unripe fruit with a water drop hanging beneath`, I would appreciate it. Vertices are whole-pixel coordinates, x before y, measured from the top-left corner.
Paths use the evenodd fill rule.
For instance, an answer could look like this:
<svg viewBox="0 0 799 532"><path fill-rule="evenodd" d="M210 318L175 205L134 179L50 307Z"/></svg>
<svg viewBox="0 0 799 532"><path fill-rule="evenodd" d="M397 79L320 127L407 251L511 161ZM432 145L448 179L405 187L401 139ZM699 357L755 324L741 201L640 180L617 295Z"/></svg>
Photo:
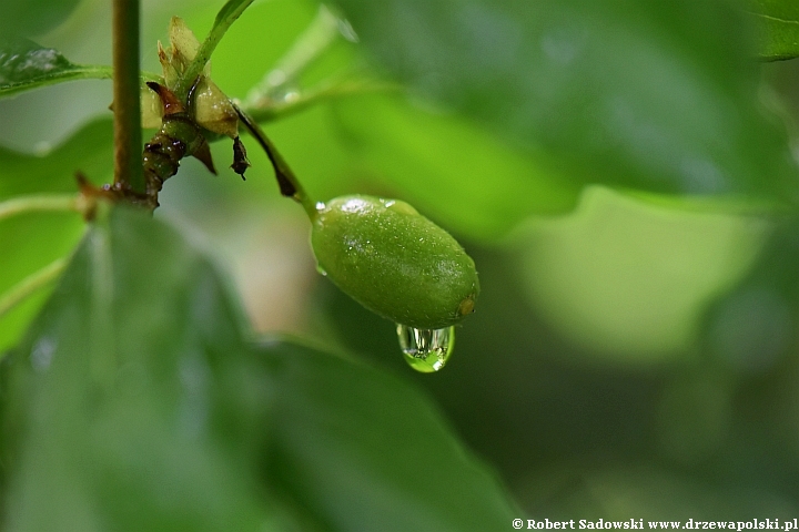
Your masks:
<svg viewBox="0 0 799 532"><path fill-rule="evenodd" d="M449 233L396 200L344 196L320 208L311 245L322 270L372 311L417 329L472 314L474 260Z"/></svg>

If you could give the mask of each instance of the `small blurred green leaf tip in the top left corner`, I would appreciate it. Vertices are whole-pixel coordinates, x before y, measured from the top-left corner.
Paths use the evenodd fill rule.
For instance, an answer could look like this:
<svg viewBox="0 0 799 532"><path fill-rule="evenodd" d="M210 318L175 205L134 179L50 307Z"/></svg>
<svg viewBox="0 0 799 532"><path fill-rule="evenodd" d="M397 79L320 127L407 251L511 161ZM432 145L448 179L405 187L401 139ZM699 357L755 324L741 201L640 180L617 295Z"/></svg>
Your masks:
<svg viewBox="0 0 799 532"><path fill-rule="evenodd" d="M3 0L0 41L10 35L43 33L61 23L80 0Z"/></svg>

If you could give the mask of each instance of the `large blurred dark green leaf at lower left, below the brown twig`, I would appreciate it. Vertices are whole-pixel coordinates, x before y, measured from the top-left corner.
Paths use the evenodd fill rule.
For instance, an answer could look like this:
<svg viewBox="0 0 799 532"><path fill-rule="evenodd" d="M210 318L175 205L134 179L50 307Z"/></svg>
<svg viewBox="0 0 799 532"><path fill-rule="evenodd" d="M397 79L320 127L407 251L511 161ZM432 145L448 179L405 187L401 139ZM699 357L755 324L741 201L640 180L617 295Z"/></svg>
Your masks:
<svg viewBox="0 0 799 532"><path fill-rule="evenodd" d="M9 376L12 528L272 530L252 427L270 390L223 294L144 213L92 229Z"/></svg>

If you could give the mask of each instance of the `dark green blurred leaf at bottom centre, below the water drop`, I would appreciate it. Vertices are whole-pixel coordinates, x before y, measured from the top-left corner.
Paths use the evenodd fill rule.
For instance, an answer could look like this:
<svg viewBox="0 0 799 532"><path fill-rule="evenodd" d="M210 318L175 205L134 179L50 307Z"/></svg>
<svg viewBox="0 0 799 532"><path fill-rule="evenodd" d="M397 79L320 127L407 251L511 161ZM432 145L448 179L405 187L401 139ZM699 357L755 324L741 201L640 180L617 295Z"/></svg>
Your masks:
<svg viewBox="0 0 799 532"><path fill-rule="evenodd" d="M332 530L499 531L522 515L414 388L306 348L264 351L273 481Z"/></svg>

